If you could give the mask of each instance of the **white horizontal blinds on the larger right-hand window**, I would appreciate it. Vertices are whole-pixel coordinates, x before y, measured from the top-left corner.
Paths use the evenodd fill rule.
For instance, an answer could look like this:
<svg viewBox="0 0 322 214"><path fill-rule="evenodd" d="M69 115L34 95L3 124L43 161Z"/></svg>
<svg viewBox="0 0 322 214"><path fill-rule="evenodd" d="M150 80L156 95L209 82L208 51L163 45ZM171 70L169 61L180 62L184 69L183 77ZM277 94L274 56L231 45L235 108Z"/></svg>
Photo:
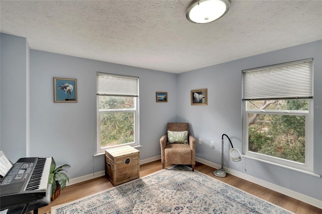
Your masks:
<svg viewBox="0 0 322 214"><path fill-rule="evenodd" d="M313 59L243 70L243 100L313 97Z"/></svg>

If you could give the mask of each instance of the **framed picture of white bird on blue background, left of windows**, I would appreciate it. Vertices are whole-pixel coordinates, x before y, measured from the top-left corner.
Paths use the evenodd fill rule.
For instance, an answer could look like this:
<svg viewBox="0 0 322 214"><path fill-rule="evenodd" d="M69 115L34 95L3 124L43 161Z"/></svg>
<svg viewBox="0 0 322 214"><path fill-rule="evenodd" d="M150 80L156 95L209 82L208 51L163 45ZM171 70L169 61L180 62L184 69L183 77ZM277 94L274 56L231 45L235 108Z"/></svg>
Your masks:
<svg viewBox="0 0 322 214"><path fill-rule="evenodd" d="M54 77L54 102L77 102L77 79Z"/></svg>

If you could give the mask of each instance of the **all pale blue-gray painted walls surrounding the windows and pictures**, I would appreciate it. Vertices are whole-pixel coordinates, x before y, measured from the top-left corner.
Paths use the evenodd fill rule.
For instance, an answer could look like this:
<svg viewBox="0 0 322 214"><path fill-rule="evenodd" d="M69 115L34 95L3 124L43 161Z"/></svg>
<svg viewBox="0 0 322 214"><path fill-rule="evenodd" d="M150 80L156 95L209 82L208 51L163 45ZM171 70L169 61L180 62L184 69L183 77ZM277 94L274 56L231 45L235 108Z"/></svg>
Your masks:
<svg viewBox="0 0 322 214"><path fill-rule="evenodd" d="M220 164L223 133L241 150L241 70L313 57L314 172L322 173L322 41L178 75L30 50L30 81L26 44L24 38L1 34L1 149L13 162L26 155L53 156L58 164L71 165L70 178L104 170L104 156L93 156L99 71L139 77L141 159L159 155L159 138L166 133L167 123L179 121L189 122L191 133L203 141L197 144L196 156ZM53 77L77 79L77 103L53 102ZM19 88L9 91L11 82ZM200 88L208 89L208 105L192 106L190 90ZM169 101L156 103L156 91L167 91ZM214 141L215 149L210 148L210 141ZM226 154L227 141L224 148ZM318 191L322 189L321 178L247 158L232 163L227 155L224 157L231 169L322 199Z"/></svg>

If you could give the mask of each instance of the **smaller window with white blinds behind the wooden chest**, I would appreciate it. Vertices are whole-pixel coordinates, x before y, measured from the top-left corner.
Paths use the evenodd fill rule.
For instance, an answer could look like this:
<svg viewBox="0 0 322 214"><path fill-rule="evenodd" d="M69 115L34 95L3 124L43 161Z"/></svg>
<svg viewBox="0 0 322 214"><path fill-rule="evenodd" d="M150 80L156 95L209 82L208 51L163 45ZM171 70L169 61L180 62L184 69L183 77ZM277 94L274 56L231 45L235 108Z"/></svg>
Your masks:
<svg viewBox="0 0 322 214"><path fill-rule="evenodd" d="M97 73L97 153L139 145L138 77Z"/></svg>

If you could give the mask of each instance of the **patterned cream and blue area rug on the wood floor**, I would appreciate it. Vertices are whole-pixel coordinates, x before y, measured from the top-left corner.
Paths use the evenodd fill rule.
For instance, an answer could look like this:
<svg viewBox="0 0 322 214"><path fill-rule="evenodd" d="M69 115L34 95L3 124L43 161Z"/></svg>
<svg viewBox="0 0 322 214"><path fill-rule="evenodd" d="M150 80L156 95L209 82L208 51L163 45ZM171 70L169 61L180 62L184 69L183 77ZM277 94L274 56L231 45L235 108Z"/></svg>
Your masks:
<svg viewBox="0 0 322 214"><path fill-rule="evenodd" d="M215 178L172 166L103 192L51 207L66 213L292 213Z"/></svg>

